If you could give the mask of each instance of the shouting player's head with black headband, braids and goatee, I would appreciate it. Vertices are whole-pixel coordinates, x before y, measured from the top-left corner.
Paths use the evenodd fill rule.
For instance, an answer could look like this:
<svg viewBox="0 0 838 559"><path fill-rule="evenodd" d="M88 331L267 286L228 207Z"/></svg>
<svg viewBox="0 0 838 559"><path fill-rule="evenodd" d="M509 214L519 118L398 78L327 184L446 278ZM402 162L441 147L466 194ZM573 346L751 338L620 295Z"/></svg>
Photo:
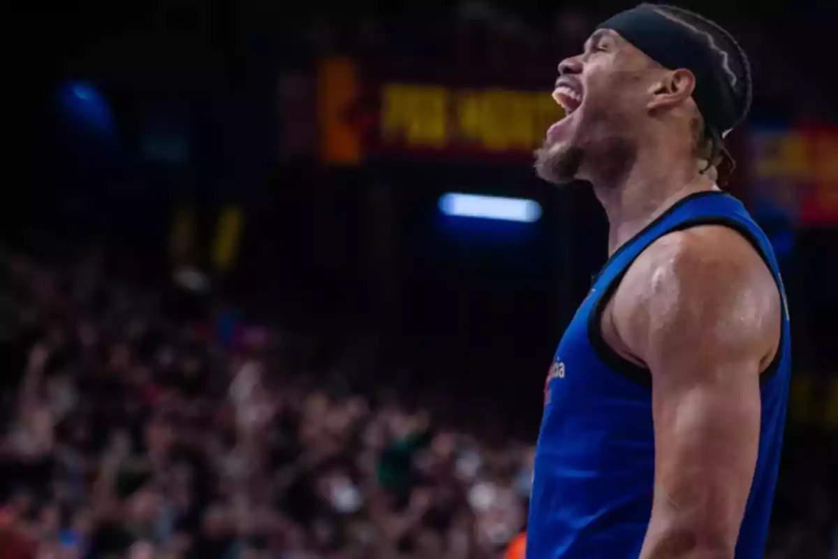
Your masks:
<svg viewBox="0 0 838 559"><path fill-rule="evenodd" d="M566 116L535 168L552 183L618 182L643 148L711 168L751 103L747 56L730 34L681 8L642 4L600 24L562 60L553 97Z"/></svg>

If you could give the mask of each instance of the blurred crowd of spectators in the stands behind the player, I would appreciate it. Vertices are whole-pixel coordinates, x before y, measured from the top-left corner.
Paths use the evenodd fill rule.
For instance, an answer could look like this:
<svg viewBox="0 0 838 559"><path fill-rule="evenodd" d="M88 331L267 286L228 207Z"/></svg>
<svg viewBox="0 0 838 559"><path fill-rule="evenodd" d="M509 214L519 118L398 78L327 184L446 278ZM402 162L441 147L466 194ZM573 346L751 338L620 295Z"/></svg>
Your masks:
<svg viewBox="0 0 838 559"><path fill-rule="evenodd" d="M0 277L3 559L515 557L530 445L386 375L354 390L311 340L174 318L96 256L7 254ZM836 449L789 448L767 556L831 559Z"/></svg>

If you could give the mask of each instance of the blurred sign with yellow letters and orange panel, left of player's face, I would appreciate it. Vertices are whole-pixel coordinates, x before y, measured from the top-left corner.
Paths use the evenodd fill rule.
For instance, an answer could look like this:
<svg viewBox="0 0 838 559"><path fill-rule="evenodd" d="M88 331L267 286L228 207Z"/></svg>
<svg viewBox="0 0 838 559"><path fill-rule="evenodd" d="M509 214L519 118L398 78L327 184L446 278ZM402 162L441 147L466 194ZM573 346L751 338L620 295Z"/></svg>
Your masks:
<svg viewBox="0 0 838 559"><path fill-rule="evenodd" d="M325 60L318 76L321 156L357 164L394 155L532 157L563 111L541 91L433 80L371 78L354 60Z"/></svg>

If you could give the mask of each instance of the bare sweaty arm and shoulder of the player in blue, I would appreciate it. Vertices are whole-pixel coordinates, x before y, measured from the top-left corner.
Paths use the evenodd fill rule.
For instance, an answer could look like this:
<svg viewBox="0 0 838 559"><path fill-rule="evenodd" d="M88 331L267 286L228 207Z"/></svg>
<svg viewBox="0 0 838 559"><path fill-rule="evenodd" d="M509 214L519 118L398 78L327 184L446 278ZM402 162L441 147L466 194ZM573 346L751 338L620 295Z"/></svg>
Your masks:
<svg viewBox="0 0 838 559"><path fill-rule="evenodd" d="M731 230L675 233L647 253L612 311L623 348L652 373L654 504L640 558L733 559L757 461L759 374L779 341L779 292Z"/></svg>

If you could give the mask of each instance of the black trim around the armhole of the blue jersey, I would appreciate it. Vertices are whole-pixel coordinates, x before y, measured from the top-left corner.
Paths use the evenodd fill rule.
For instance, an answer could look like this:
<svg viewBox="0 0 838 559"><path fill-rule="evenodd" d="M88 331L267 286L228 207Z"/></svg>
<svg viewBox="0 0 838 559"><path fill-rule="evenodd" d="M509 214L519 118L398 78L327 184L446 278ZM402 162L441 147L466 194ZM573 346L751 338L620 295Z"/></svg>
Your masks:
<svg viewBox="0 0 838 559"><path fill-rule="evenodd" d="M765 262L765 265L768 267L768 270L772 272L772 276L774 276L774 283L777 284L777 289L779 290L780 298L782 299L784 297L783 286L780 284L777 277L775 276L771 261L768 260L768 256L765 254L765 251L763 251L763 247L760 246L757 237L753 234L753 232L751 232L751 230L748 230L745 225L743 225L737 220L723 216L697 217L691 220L685 220L680 224L675 225L672 229L666 230L664 233L662 233L661 236L669 235L670 233L675 233L676 231L691 229L692 227L697 227L701 225L722 225L724 227L727 227L728 229L735 230L739 235L744 237L744 239L748 241L748 243L750 243L751 246L753 246L754 250L757 251L759 257L763 259L763 262ZM655 241L656 240L657 239L655 239ZM648 246L645 248L648 248ZM627 360L622 355L619 355L617 351L615 351L610 345L608 345L608 342L606 342L605 339L603 339L602 330L603 312L605 311L606 305L608 305L608 302L613 297L614 292L617 291L620 282L623 281L623 277L625 276L626 272L629 271L629 267L631 267L634 261L637 260L637 258L642 253L643 251L640 251L637 256L634 256L634 258L626 264L626 266L623 268L623 271L620 272L617 276L615 276L610 283L608 283L608 286L603 290L603 294L600 296L600 298L597 299L597 302L594 303L591 315L590 317L588 317L587 321L587 336L592 348L597 354L597 357L600 360L602 360L605 365L608 365L608 367L610 367L612 370L614 370L619 375L622 375L628 380L631 380L639 385L651 387L651 371L649 371L649 369L647 369L646 367L637 365L634 362ZM777 353L773 356L771 363L769 363L768 366L760 373L760 385L766 384L769 380L773 378L773 376L779 370L780 362L783 360L784 344L787 335L784 323L788 317L786 317L785 315L784 305L782 304L782 301L780 303L780 314L782 321L780 323L779 345L777 347Z"/></svg>

